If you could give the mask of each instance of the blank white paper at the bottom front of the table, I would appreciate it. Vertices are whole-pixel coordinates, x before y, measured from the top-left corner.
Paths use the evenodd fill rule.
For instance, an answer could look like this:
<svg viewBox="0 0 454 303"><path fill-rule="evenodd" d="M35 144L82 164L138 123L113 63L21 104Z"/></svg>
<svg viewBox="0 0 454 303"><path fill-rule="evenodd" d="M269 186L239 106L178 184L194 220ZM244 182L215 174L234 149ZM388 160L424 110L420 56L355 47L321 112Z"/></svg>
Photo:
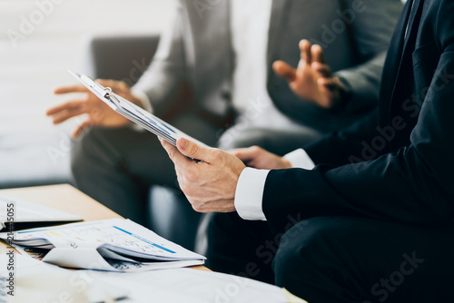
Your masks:
<svg viewBox="0 0 454 303"><path fill-rule="evenodd" d="M128 288L124 303L288 303L282 288L237 276L195 269L140 273L93 272L96 279Z"/></svg>

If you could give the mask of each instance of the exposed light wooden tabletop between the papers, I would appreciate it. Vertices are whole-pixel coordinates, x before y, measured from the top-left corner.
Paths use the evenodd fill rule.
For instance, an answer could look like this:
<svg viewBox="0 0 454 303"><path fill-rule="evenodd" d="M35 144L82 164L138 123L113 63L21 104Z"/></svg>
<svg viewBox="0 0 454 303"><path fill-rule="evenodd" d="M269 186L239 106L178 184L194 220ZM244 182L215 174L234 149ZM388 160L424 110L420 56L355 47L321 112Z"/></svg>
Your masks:
<svg viewBox="0 0 454 303"><path fill-rule="evenodd" d="M0 194L68 211L81 216L85 221L123 218L69 184L0 190ZM5 253L6 247L4 242L0 242L0 253ZM210 270L203 266L192 269Z"/></svg>

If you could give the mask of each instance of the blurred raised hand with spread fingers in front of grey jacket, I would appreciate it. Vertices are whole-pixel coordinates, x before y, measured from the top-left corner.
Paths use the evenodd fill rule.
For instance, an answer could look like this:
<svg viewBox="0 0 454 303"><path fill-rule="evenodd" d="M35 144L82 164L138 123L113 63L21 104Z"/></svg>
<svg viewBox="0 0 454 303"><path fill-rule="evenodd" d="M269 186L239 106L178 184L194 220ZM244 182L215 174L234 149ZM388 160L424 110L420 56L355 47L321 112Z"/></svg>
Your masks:
<svg viewBox="0 0 454 303"><path fill-rule="evenodd" d="M333 77L331 68L326 64L320 45L301 40L301 60L295 70L283 61L272 64L275 73L286 79L291 91L301 99L317 103L331 109L341 102L344 85L338 77Z"/></svg>

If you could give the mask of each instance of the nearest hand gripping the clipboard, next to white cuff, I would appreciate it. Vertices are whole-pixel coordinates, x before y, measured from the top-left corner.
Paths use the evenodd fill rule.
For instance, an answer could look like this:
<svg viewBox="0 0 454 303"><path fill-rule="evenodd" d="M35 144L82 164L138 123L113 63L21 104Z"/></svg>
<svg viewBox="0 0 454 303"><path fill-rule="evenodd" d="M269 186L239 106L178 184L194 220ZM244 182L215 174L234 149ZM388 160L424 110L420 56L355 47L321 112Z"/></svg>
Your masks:
<svg viewBox="0 0 454 303"><path fill-rule="evenodd" d="M235 210L236 184L246 167L241 160L218 149L202 147L179 139L177 147L160 138L163 148L175 164L180 188L199 212ZM200 161L192 161L189 158Z"/></svg>

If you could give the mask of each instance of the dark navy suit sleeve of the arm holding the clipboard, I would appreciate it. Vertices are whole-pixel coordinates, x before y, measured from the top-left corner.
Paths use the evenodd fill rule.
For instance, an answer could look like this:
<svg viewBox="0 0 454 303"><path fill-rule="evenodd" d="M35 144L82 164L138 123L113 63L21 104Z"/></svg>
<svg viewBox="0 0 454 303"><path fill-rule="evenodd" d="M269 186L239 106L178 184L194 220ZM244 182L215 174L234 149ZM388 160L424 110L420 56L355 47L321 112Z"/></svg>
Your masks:
<svg viewBox="0 0 454 303"><path fill-rule="evenodd" d="M454 12L454 3L446 3L437 18L439 63L409 146L341 167L271 171L265 182L263 210L274 231L283 231L291 218L328 215L422 226L452 222L454 20L449 14Z"/></svg>

